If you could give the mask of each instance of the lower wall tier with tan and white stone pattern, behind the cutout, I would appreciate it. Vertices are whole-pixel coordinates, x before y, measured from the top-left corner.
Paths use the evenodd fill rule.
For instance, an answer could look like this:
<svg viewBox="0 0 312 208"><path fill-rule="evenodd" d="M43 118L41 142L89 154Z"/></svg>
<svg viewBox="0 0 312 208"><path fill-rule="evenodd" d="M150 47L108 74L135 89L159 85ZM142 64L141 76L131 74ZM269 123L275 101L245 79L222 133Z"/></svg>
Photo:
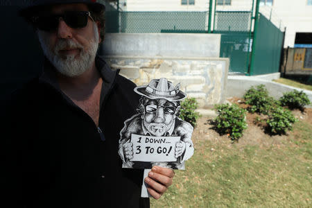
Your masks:
<svg viewBox="0 0 312 208"><path fill-rule="evenodd" d="M150 80L167 78L181 90L196 98L200 108L212 107L225 101L227 89L227 58L140 58L105 56L112 69L137 85L148 85Z"/></svg>

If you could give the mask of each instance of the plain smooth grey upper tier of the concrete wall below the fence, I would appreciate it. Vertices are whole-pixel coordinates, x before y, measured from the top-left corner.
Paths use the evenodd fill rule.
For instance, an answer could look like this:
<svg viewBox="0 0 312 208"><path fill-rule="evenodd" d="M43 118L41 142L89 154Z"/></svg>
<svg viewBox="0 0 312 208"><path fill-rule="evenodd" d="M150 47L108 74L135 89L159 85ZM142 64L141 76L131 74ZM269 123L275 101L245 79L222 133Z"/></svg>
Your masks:
<svg viewBox="0 0 312 208"><path fill-rule="evenodd" d="M218 58L220 34L107 33L103 55Z"/></svg>

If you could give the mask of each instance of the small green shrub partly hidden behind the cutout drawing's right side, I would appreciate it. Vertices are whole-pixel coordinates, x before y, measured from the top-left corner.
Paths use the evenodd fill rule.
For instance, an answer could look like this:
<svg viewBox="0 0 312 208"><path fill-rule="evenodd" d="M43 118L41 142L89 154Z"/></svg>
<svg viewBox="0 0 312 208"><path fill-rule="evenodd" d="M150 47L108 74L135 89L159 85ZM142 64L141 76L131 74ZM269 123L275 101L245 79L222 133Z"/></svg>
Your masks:
<svg viewBox="0 0 312 208"><path fill-rule="evenodd" d="M180 110L180 119L187 121L196 127L196 121L200 117L198 112L195 110L198 107L198 102L196 98L186 98L184 101L181 102L181 110Z"/></svg>

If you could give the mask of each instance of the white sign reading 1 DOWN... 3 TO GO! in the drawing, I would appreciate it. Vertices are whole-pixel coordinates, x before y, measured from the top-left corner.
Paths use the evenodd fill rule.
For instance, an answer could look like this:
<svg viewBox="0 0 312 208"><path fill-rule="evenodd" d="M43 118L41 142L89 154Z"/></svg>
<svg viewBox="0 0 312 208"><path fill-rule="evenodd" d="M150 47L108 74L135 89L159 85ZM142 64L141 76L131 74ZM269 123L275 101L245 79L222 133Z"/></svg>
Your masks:
<svg viewBox="0 0 312 208"><path fill-rule="evenodd" d="M175 162L175 144L180 137L152 137L131 135L133 158L141 162Z"/></svg>

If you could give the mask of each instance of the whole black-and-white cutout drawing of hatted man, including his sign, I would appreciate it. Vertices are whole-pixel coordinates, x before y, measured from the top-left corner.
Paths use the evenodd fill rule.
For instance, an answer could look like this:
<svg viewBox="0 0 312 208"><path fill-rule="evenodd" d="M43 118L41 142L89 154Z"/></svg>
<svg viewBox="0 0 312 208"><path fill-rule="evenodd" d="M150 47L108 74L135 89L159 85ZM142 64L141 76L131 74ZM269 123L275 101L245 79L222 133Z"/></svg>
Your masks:
<svg viewBox="0 0 312 208"><path fill-rule="evenodd" d="M192 125L178 117L180 101L186 97L180 84L174 87L166 78L160 78L136 87L135 92L141 95L138 114L126 120L120 132L123 168L184 169L194 148Z"/></svg>

